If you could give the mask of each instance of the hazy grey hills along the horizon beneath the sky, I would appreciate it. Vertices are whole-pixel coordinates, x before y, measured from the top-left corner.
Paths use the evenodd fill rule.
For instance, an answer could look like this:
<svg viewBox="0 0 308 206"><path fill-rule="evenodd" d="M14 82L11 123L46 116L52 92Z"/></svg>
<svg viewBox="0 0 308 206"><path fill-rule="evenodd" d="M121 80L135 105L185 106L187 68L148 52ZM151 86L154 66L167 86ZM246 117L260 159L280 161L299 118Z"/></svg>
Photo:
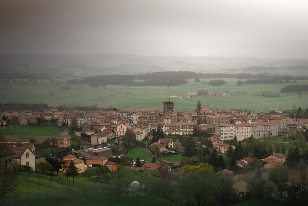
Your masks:
<svg viewBox="0 0 308 206"><path fill-rule="evenodd" d="M260 73L271 69L305 70L307 60L244 57L145 57L134 54L1 54L0 77L59 78L159 71Z"/></svg>

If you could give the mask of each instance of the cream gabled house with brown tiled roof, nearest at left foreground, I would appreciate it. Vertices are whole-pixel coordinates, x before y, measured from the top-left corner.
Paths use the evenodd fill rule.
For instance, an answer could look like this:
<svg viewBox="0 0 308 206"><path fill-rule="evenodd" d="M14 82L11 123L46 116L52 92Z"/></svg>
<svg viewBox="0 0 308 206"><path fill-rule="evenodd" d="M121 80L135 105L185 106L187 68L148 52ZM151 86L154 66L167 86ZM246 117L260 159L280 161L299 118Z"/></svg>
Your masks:
<svg viewBox="0 0 308 206"><path fill-rule="evenodd" d="M27 147L12 147L14 152L14 160L17 160L19 165L28 165L35 170L35 155Z"/></svg>

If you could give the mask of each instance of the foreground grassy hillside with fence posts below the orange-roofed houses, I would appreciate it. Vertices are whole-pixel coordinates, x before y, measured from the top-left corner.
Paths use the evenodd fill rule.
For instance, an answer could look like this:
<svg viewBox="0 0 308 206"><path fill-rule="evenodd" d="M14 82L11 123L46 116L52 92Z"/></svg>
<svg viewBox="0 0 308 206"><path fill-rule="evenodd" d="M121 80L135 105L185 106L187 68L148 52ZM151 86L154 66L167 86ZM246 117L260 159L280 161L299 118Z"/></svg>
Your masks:
<svg viewBox="0 0 308 206"><path fill-rule="evenodd" d="M138 181L147 188L156 179L150 174L131 170L124 183L130 185L132 181ZM6 205L144 205L145 202L147 205L176 205L153 195L115 195L114 185L108 186L107 179L98 181L95 176L67 179L25 173L20 174L19 190L21 194Z"/></svg>

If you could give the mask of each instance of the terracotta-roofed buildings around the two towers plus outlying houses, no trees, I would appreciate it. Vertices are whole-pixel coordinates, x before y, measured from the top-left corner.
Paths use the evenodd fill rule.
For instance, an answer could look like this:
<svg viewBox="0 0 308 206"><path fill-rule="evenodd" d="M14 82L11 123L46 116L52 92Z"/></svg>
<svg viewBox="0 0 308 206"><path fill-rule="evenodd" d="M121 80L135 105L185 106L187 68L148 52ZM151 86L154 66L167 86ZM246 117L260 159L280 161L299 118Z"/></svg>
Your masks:
<svg viewBox="0 0 308 206"><path fill-rule="evenodd" d="M63 157L63 162L69 164L74 162L78 168L78 173L87 170L91 164L100 164L107 166L110 171L117 168L117 163L108 160L112 157L112 149L108 148L108 142L116 138L125 136L128 129L133 132L134 140L152 140L153 130L161 130L165 138L160 138L158 142L147 145L152 153L158 151L158 156L170 156L176 154L174 151L174 142L172 136L190 136L196 135L196 132L207 131L210 137L207 139L213 145L218 153L226 154L227 151L235 146L229 144L235 137L237 141L242 141L249 137L255 139L282 136L288 137L295 135L296 132L304 132L308 126L308 119L291 119L286 116L281 116L281 109L276 109L277 115L270 114L265 111L259 111L256 115L250 112L240 112L230 109L221 109L212 111L201 107L200 101L197 103L195 111L179 112L174 110L172 101L165 101L163 110L145 111L138 109L137 111L59 111L55 108L49 108L44 111L31 110L6 110L1 116L6 116L9 121L0 120L1 128L9 128L12 124L20 125L38 125L38 118L44 117L45 120L56 120L58 126L72 126L72 119L77 120L77 127L80 131L74 134L61 132L55 136L54 142L57 147L71 147L71 135L81 137L84 134L91 136L91 148L81 149L78 151L79 159L72 154ZM208 142L205 141L205 142ZM202 142L197 142L201 147ZM35 166L39 162L45 161L44 158L35 158L34 144L24 143L23 147L13 146L14 158L18 159L21 165L29 165L35 170ZM252 158L246 157L237 160L237 166L245 167L249 162L254 161ZM270 169L282 165L286 161L286 156L282 153L274 153L267 158L258 160L262 163L261 169L262 178L268 180ZM132 164L132 167L134 165ZM137 169L142 169L153 173L160 168L159 163L145 162L143 166ZM171 171L171 166L166 165L166 170L175 176L180 176L179 171ZM65 169L60 171L65 172ZM253 179L252 174L235 175L231 170L221 170L218 175L232 176L237 178L238 187L242 188L240 181ZM294 173L295 174L295 173ZM244 176L243 176L244 175ZM293 178L293 177L292 177ZM239 195L245 195L247 189L239 190Z"/></svg>

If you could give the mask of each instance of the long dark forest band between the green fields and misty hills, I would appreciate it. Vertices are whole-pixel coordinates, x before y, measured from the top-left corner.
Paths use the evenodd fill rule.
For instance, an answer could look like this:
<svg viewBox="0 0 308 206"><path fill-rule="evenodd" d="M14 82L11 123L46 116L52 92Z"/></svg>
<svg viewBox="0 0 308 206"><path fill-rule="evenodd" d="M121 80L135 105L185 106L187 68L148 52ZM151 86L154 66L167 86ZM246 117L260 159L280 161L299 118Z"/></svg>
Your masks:
<svg viewBox="0 0 308 206"><path fill-rule="evenodd" d="M260 74L202 74L188 71L168 71L155 72L149 74L130 74L130 75L101 75L85 77L80 80L71 80L69 83L85 83L90 86L106 86L106 85L125 85L125 86L177 86L179 84L187 83L186 79L195 80L199 78L237 78L248 79L248 83L282 83L293 80L307 80L306 76L290 76L278 75L270 73ZM144 80L137 82L135 80ZM255 80L252 80L255 79ZM199 80L200 81L200 80ZM225 84L223 80L211 80L213 86ZM209 83L210 84L210 83Z"/></svg>

